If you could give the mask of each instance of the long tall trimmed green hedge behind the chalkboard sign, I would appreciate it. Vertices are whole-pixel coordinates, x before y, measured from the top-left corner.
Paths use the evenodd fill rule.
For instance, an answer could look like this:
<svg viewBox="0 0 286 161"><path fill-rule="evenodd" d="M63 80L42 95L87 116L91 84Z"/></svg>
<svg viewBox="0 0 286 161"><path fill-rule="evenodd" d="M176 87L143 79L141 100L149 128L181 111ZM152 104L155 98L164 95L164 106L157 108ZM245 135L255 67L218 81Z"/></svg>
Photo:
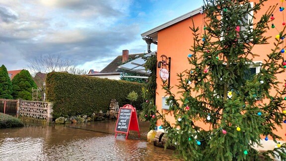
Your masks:
<svg viewBox="0 0 286 161"><path fill-rule="evenodd" d="M75 116L109 109L111 99L119 106L130 104L126 99L129 92L138 93L133 106L141 109L143 84L124 80L108 80L68 73L52 72L46 80L47 100L54 103L53 117Z"/></svg>

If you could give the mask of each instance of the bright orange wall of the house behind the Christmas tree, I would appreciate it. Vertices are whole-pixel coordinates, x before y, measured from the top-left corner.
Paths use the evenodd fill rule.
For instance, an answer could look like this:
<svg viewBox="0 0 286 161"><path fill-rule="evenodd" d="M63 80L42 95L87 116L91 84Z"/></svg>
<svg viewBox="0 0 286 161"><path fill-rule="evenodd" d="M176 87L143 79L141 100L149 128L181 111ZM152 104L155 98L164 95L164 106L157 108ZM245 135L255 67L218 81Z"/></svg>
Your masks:
<svg viewBox="0 0 286 161"><path fill-rule="evenodd" d="M254 2L258 2L259 0L252 0ZM264 6L262 6L262 9L259 10L257 14L255 14L255 17L257 19L254 19L254 23L259 21L261 15L266 12L268 7L270 5L275 5L276 3L281 3L281 0L268 0L265 2ZM253 61L263 61L264 59L267 59L267 54L271 52L271 49L274 48L273 43L275 42L275 36L279 34L279 31L282 31L283 29L283 13L286 15L286 10L284 12L279 11L279 6L277 6L276 10L274 11L274 17L273 20L276 28L271 28L271 23L269 23L269 32L265 34L266 37L271 36L271 38L268 40L269 44L265 45L256 45L254 49L252 50L253 53L260 55L260 57L256 57ZM204 27L204 20L203 20L203 14L196 14L193 17L194 23L196 27L199 27L201 31ZM178 77L176 76L177 73L181 73L184 70L191 70L194 67L191 67L188 63L188 54L192 54L192 52L189 50L191 49L193 45L193 32L189 28L193 26L192 19L188 18L183 21L180 21L177 24L174 24L168 28L165 28L163 30L160 30L158 32L158 46L157 46L157 59L158 61L161 60L161 55L166 55L167 57L171 57L171 74L170 74L170 86L174 86L172 89L173 93L176 93L178 89L175 87L175 84L178 83ZM286 40L286 39L285 39ZM283 46L281 45L281 48ZM282 62L281 62L282 63ZM160 69L157 69L157 73L159 73ZM280 84L281 89L284 88L284 82L286 73L277 75L277 79L281 82ZM156 106L157 110L162 110L162 97L164 97L165 90L162 89L162 80L160 77L157 77L157 95L156 95ZM272 93L276 93L273 91ZM164 111L164 110L163 110ZM173 116L166 116L170 123L174 123L174 117ZM200 123L201 124L201 123ZM157 122L157 126L160 126L161 122ZM283 124L283 128L278 128L277 134L283 138L283 140L286 140L286 124Z"/></svg>

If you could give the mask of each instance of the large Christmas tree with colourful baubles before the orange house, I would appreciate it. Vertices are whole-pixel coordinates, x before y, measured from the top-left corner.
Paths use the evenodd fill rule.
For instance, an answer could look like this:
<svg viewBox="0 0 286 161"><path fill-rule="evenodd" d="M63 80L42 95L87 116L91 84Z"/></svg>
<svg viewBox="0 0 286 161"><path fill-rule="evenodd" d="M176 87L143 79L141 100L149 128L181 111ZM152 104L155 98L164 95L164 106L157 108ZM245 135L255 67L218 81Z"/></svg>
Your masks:
<svg viewBox="0 0 286 161"><path fill-rule="evenodd" d="M253 58L259 55L252 49L268 43L264 34L275 28L273 13L278 9L278 5L267 6L254 23L267 0L256 1L252 5L249 0L204 0L205 26L202 30L196 24L190 27L194 45L188 55L190 70L178 74L180 92L163 85L170 102L167 114L173 113L176 122L171 125L159 111L158 119L163 121L168 144L184 160L286 160L286 147L275 134L286 118L286 88L276 79L286 68L285 27L271 52L265 53L268 59L255 63ZM253 74L251 67L260 67L260 72ZM271 137L277 148L256 150L263 137Z"/></svg>

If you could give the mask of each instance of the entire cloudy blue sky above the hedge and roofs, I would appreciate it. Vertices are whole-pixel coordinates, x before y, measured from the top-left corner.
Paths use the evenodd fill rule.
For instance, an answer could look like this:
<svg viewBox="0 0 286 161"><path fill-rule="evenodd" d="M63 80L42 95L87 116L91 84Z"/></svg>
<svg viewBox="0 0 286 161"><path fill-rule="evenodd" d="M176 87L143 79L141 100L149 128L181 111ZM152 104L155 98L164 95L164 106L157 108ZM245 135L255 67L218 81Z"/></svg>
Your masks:
<svg viewBox="0 0 286 161"><path fill-rule="evenodd" d="M60 55L78 69L100 71L122 50L146 53L143 32L202 4L203 0L0 0L0 66L29 70L33 59Z"/></svg>

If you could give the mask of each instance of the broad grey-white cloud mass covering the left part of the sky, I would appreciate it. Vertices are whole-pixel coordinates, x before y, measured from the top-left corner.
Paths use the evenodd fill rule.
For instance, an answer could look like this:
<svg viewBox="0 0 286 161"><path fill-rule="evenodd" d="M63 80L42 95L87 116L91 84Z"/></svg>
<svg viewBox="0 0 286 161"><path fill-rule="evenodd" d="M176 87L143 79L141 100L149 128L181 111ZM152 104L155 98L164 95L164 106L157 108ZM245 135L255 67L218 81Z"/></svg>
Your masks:
<svg viewBox="0 0 286 161"><path fill-rule="evenodd" d="M140 26L127 17L130 0L0 2L0 47L7 46L1 57L11 54L28 62L40 55L61 54L79 66L107 65L121 55L120 46L140 35ZM6 64L14 66L12 57L7 59Z"/></svg>

